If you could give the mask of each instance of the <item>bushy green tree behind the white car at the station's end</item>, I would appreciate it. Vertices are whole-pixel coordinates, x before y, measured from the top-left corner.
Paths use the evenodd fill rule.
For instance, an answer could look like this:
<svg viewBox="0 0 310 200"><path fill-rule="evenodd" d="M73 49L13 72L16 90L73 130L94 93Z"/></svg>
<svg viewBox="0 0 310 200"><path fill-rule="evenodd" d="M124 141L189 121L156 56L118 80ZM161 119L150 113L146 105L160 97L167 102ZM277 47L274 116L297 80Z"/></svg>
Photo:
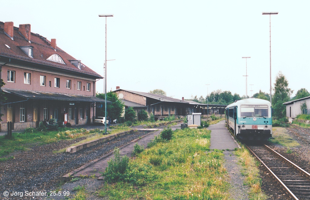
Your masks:
<svg viewBox="0 0 310 200"><path fill-rule="evenodd" d="M100 99L105 99L104 93L97 93L96 97ZM111 103L107 103L107 117L111 120L119 119L122 115L124 104L120 101L117 97L115 92L108 92L107 93L107 100L111 101ZM96 107L96 116L104 116L104 106L102 108Z"/></svg>

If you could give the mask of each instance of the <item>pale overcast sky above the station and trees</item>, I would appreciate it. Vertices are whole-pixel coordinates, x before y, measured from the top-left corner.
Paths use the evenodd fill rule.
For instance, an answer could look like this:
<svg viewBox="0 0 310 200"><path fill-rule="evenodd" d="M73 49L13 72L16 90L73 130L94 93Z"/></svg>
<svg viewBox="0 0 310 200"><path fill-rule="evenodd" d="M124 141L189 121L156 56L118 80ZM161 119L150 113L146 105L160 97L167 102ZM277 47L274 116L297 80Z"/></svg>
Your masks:
<svg viewBox="0 0 310 200"><path fill-rule="evenodd" d="M310 1L22 1L0 0L0 21L31 24L104 76L107 90L166 91L176 99L221 89L240 96L270 92L281 71L294 90L310 91ZM242 58L251 57L251 58ZM209 84L209 85L207 85ZM252 91L251 91L252 90ZM104 92L99 80L96 91Z"/></svg>

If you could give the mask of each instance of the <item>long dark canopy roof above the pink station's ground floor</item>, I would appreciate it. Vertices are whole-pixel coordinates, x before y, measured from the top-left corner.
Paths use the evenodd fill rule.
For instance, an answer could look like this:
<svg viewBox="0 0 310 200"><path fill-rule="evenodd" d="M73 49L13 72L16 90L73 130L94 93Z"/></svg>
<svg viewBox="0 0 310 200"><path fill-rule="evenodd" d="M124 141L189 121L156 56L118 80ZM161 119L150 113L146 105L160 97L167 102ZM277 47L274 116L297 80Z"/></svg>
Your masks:
<svg viewBox="0 0 310 200"><path fill-rule="evenodd" d="M104 99L100 99L94 96L85 96L85 95L72 95L72 94L62 94L62 93L54 93L54 92L15 90L15 89L7 89L7 88L5 89L3 88L2 91L25 98L25 99L104 102ZM107 103L108 102L110 101L107 101Z"/></svg>

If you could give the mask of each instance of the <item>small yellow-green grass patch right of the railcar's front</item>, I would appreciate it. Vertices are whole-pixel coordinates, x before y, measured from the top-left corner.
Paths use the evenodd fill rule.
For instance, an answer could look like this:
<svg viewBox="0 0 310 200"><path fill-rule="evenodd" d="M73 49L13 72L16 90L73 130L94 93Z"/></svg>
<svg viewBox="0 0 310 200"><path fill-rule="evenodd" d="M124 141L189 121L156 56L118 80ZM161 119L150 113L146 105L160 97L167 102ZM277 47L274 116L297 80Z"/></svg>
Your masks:
<svg viewBox="0 0 310 200"><path fill-rule="evenodd" d="M270 143L280 144L285 147L298 147L300 144L287 134L286 128L272 127L272 137L268 141Z"/></svg>

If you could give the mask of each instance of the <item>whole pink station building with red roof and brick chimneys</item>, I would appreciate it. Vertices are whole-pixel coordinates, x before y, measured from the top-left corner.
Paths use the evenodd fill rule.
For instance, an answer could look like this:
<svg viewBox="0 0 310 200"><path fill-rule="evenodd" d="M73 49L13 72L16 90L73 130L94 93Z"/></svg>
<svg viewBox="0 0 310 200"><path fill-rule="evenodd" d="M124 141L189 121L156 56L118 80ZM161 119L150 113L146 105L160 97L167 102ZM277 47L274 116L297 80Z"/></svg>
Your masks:
<svg viewBox="0 0 310 200"><path fill-rule="evenodd" d="M30 24L14 27L0 22L1 131L36 127L54 118L71 125L90 124L95 117L96 80L103 77L56 45L56 39L30 31Z"/></svg>

